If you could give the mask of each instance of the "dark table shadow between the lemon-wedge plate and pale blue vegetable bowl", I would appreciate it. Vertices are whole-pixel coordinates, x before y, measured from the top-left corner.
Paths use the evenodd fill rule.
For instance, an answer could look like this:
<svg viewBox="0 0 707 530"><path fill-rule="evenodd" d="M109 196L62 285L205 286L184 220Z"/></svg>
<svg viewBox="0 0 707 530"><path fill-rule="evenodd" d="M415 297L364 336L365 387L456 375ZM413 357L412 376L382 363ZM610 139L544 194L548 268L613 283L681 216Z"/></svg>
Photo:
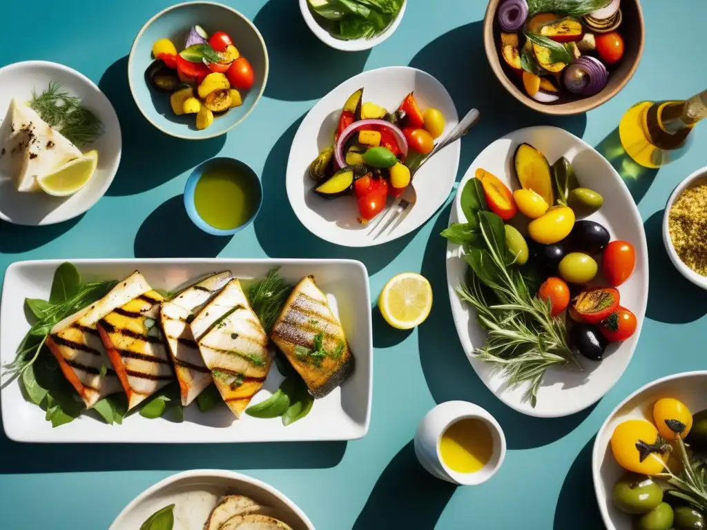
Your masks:
<svg viewBox="0 0 707 530"><path fill-rule="evenodd" d="M110 65L98 86L115 107L123 141L120 167L106 195L134 195L156 188L216 156L226 142L225 134L199 141L175 138L148 122L130 91L127 57Z"/></svg>

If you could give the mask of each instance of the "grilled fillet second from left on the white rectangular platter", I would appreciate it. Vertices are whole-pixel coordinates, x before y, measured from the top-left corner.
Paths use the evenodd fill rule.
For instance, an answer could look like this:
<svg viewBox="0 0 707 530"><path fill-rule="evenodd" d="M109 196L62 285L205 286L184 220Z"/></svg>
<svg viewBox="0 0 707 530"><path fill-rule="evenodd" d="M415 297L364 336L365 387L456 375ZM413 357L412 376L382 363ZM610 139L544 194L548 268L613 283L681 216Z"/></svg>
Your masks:
<svg viewBox="0 0 707 530"><path fill-rule="evenodd" d="M156 323L163 300L160 293L148 288L98 322L110 364L128 396L128 409L175 379Z"/></svg>

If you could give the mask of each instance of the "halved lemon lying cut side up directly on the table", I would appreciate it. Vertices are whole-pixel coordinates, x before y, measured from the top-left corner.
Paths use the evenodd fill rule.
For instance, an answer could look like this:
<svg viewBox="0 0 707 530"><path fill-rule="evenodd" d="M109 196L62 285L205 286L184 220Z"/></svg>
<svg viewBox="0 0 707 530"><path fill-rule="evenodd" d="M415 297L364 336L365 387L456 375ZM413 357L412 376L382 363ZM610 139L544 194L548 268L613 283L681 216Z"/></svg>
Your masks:
<svg viewBox="0 0 707 530"><path fill-rule="evenodd" d="M391 278L378 297L385 322L397 329L419 326L432 309L432 285L427 278L405 272Z"/></svg>

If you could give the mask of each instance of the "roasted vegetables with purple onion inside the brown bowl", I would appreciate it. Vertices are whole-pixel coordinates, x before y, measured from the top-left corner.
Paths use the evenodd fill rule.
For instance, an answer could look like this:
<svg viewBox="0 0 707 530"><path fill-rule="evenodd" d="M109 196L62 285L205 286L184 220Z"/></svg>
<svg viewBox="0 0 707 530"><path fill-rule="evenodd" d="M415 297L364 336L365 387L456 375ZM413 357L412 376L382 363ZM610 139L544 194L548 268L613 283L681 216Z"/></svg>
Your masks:
<svg viewBox="0 0 707 530"><path fill-rule="evenodd" d="M553 103L604 90L624 56L620 0L504 0L498 49L534 100Z"/></svg>

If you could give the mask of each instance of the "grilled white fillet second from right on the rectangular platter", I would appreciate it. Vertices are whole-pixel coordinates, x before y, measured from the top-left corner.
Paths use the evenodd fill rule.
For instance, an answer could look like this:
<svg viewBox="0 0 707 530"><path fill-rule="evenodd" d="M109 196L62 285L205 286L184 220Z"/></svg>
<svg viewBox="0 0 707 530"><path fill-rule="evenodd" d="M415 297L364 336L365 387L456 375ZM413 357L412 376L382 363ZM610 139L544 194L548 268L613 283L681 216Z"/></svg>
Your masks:
<svg viewBox="0 0 707 530"><path fill-rule="evenodd" d="M191 324L201 358L236 418L262 388L272 355L262 324L233 279Z"/></svg>

